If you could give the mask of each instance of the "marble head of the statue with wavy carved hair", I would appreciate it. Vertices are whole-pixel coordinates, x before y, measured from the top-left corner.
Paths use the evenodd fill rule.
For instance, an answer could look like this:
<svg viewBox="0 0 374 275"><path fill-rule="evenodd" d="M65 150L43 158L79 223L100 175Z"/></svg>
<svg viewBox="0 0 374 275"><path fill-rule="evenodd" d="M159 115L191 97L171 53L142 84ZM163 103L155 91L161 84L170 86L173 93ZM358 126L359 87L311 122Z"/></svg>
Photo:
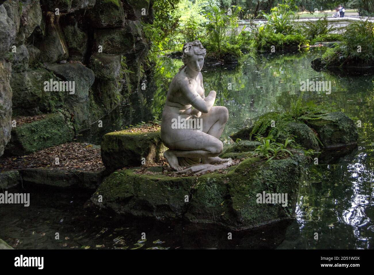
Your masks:
<svg viewBox="0 0 374 275"><path fill-rule="evenodd" d="M184 43L182 61L190 70L199 72L203 68L206 49L199 40Z"/></svg>

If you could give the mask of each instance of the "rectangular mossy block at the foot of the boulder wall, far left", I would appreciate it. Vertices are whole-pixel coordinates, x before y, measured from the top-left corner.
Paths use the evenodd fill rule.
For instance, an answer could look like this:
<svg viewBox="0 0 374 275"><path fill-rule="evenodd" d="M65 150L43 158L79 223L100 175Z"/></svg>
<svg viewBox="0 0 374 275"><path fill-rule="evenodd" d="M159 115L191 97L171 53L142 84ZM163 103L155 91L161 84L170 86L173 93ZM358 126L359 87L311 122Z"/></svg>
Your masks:
<svg viewBox="0 0 374 275"><path fill-rule="evenodd" d="M61 113L48 114L45 119L12 128L5 150L10 155L23 156L51 146L71 141L74 129Z"/></svg>

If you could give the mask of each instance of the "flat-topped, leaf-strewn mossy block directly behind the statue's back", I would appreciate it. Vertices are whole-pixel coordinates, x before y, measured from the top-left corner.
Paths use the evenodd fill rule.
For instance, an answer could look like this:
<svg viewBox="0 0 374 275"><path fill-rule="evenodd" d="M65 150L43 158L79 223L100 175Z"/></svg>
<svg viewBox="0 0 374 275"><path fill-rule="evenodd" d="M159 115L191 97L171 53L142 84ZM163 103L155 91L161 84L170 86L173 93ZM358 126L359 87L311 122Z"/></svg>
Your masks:
<svg viewBox="0 0 374 275"><path fill-rule="evenodd" d="M160 131L143 133L124 130L105 134L101 140L101 159L109 171L141 165L142 158L145 158L145 164L154 164L165 150Z"/></svg>

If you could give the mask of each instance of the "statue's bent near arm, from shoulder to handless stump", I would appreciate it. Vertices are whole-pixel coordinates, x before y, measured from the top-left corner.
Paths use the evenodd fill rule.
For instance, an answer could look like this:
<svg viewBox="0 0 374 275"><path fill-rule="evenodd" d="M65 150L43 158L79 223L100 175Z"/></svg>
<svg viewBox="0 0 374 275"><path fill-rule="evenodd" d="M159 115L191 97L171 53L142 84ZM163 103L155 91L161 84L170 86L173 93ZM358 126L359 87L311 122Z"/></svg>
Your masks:
<svg viewBox="0 0 374 275"><path fill-rule="evenodd" d="M209 95L206 98L202 98L190 85L188 80L181 81L180 89L183 94L186 96L188 102L194 107L195 109L199 110L202 113L209 113L212 109L216 92L210 91Z"/></svg>

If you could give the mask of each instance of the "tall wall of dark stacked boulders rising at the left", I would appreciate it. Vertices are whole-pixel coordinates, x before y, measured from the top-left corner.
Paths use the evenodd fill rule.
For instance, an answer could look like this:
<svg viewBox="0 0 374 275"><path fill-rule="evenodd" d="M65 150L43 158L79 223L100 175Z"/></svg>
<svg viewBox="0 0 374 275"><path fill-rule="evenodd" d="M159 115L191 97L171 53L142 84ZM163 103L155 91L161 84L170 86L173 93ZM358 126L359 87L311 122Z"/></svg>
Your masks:
<svg viewBox="0 0 374 275"><path fill-rule="evenodd" d="M0 1L0 156L11 117L68 114L77 134L138 88L153 0ZM75 92L45 91L71 81Z"/></svg>

